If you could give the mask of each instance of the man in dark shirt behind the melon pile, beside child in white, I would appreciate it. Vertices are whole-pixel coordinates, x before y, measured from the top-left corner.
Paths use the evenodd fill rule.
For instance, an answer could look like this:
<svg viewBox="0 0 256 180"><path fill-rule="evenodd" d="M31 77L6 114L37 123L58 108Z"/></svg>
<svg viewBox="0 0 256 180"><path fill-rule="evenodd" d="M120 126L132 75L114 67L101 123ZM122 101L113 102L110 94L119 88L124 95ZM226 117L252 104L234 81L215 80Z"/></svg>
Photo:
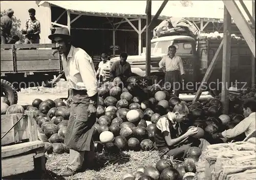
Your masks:
<svg viewBox="0 0 256 180"><path fill-rule="evenodd" d="M132 75L131 65L126 62L127 53L120 54L120 60L113 63L110 69L110 79L120 77L123 81L127 80Z"/></svg>

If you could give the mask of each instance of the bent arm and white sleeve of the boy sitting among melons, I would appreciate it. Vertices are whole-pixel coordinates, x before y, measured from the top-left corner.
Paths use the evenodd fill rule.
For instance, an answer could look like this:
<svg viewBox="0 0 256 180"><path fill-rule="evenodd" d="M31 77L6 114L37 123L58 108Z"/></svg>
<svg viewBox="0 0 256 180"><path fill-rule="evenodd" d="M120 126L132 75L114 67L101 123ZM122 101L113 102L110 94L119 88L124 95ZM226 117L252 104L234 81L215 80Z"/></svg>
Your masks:
<svg viewBox="0 0 256 180"><path fill-rule="evenodd" d="M158 120L157 128L163 133L164 140L168 146L174 146L188 137L188 134L184 133L180 137L172 139L172 137L170 137L169 121L165 117Z"/></svg>

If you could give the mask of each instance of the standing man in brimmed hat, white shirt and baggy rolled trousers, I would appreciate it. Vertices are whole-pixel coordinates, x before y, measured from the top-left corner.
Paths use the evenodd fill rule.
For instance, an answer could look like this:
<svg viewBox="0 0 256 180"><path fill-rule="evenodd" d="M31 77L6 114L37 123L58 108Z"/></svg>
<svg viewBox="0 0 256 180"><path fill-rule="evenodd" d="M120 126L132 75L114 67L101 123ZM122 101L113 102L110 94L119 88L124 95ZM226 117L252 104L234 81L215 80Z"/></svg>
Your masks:
<svg viewBox="0 0 256 180"><path fill-rule="evenodd" d="M81 170L84 160L87 160L85 154L91 152L88 157L94 158L91 140L96 122L98 84L91 57L84 50L71 45L67 28L56 29L54 34L49 35L49 39L56 43L68 81L68 102L72 101L64 140L65 145L70 148L69 164L67 170L61 173L62 176L70 176Z"/></svg>

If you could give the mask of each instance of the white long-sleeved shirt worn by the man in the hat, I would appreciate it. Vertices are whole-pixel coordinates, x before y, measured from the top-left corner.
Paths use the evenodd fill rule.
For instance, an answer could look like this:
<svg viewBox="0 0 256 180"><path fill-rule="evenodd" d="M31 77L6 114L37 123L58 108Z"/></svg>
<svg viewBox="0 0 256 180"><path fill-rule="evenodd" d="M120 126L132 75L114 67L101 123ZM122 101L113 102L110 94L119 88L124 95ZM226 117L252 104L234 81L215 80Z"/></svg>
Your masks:
<svg viewBox="0 0 256 180"><path fill-rule="evenodd" d="M67 59L61 54L61 60L69 89L86 89L89 97L94 96L98 83L92 58L81 48L71 46Z"/></svg>

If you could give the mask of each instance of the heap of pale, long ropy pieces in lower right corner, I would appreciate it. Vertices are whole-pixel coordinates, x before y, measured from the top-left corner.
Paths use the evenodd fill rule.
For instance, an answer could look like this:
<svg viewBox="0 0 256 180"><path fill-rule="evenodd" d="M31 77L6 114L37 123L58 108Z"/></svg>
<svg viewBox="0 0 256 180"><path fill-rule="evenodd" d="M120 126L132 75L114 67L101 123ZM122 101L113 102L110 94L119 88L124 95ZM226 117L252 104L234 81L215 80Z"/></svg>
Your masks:
<svg viewBox="0 0 256 180"><path fill-rule="evenodd" d="M196 179L255 179L255 140L209 145L196 163Z"/></svg>

